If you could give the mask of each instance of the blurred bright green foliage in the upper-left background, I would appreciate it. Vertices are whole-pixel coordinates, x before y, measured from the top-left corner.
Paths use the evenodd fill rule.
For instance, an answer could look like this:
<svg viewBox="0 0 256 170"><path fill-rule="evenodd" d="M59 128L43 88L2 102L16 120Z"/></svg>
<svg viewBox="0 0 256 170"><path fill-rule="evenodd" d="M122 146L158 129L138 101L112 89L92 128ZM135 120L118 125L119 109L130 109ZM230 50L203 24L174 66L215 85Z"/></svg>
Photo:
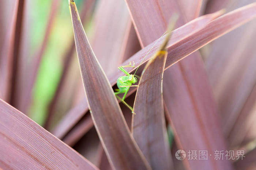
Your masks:
<svg viewBox="0 0 256 170"><path fill-rule="evenodd" d="M29 38L31 42L30 49L32 49L30 55L33 58L44 39L52 0L31 0L30 2L29 16L27 17L29 17L30 23ZM78 9L82 2L83 0L76 0ZM68 2L61 0L46 50L39 66L37 80L33 89L32 104L29 110L30 118L40 125L45 121L48 104L56 91L56 86L60 79L63 62L61 57L73 38Z"/></svg>

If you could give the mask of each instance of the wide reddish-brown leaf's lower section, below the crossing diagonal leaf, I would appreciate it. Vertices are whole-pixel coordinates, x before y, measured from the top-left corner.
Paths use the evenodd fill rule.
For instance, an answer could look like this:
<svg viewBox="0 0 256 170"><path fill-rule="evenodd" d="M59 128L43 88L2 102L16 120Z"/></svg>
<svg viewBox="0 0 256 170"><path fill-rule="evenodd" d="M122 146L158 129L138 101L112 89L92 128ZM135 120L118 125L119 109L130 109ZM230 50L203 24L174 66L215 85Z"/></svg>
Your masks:
<svg viewBox="0 0 256 170"><path fill-rule="evenodd" d="M182 9L184 6L179 9L180 14ZM187 14L187 20L180 18L180 23L185 23L189 17ZM170 114L173 122L173 130L176 132L174 139L179 149L187 153L189 150L207 150L209 154L214 150L226 150L225 139L218 126L217 105L199 52L189 55L165 71L163 99L166 113ZM194 128L197 124L201 125L201 129ZM193 141L187 140L189 138ZM177 150L174 150L174 153L175 151ZM188 159L182 163L188 169L231 169L229 161L218 161L212 157L193 161L188 155Z"/></svg>

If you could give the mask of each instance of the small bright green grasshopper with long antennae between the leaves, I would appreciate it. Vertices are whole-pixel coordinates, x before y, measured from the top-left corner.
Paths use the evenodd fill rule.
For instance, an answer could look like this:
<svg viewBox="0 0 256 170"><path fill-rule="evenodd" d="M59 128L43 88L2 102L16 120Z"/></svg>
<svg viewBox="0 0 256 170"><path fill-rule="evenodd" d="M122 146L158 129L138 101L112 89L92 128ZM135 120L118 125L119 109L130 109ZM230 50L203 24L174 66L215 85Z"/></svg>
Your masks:
<svg viewBox="0 0 256 170"><path fill-rule="evenodd" d="M165 51L165 48L166 48L166 45L167 45L167 43L168 43L168 41L169 41L169 39L170 39L171 30L173 29L176 20L177 20L177 16L172 17L171 22L170 22L170 24L169 24L169 27L168 27L168 29L167 29L167 31L166 31L166 32L167 32L167 36L166 36L165 40L163 41L163 44L162 44L161 48L159 48L159 50L155 53L155 55L159 55L159 54L161 54L161 53L163 53L163 52L164 52L164 53L167 52L167 51ZM166 32L165 32L165 33L166 33ZM163 33L162 36L164 36L165 33ZM161 37L162 37L162 36L161 36ZM158 40L160 40L161 37L160 37ZM155 44L157 44L158 40L155 42ZM154 45L151 47L151 49L147 52L146 56L147 56L148 53L152 50L152 48L155 46L155 44L154 44ZM144 56L144 58L142 59L142 61L140 62L140 64L143 62L143 60L146 58L146 56ZM139 64L139 65L140 65L140 64ZM120 77L117 79L117 87L118 87L118 89L115 89L116 92L114 92L114 94L116 95L116 97L117 97L123 104L125 104L125 106L127 106L127 107L132 111L133 114L135 114L134 111L133 111L133 108L132 108L131 106L129 106L129 104L127 104L127 103L124 101L124 99L125 99L125 96L127 95L127 92L129 91L129 88L130 88L130 87L138 87L138 86L139 86L139 85L132 85L132 84L135 84L135 83L137 82L137 78L136 78L136 77L139 78L139 76L135 75L135 73L136 73L136 71L138 70L139 67L136 69L136 71L135 71L134 74L129 74L129 73L124 69L124 67L135 67L135 63L133 62L133 65L132 65L131 62L130 62L129 65L118 67L118 69L119 69L121 72L123 72L124 74L126 74L126 76L120 76ZM124 93L124 96L123 96L122 99L118 96L118 94L121 94L121 93Z"/></svg>

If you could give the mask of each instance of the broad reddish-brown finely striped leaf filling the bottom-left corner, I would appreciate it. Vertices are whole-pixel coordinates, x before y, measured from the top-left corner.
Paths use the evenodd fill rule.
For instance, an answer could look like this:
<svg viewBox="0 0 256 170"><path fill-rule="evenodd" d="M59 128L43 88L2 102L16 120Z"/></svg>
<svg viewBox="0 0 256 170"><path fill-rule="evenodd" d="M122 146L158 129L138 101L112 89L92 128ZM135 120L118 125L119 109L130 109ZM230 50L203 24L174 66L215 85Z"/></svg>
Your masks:
<svg viewBox="0 0 256 170"><path fill-rule="evenodd" d="M98 169L1 99L0 117L1 168Z"/></svg>

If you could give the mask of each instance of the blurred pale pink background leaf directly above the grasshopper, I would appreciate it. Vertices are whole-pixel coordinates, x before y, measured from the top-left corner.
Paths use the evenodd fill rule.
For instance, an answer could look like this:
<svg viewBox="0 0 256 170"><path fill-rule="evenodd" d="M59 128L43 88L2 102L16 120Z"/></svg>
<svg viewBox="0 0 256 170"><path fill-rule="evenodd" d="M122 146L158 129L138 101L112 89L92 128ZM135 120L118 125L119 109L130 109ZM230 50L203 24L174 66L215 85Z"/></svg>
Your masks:
<svg viewBox="0 0 256 170"><path fill-rule="evenodd" d="M124 0L108 0L99 1L94 19L91 47L109 75L121 64L121 50L131 18Z"/></svg>

